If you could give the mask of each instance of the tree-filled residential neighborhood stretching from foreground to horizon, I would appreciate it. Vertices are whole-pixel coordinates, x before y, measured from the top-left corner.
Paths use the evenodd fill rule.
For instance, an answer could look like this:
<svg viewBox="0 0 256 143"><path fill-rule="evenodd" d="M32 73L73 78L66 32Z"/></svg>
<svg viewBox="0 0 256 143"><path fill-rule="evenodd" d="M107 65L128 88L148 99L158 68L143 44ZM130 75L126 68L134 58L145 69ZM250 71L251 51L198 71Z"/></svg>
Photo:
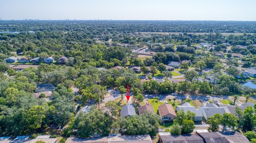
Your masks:
<svg viewBox="0 0 256 143"><path fill-rule="evenodd" d="M255 29L0 20L0 143L256 142Z"/></svg>

